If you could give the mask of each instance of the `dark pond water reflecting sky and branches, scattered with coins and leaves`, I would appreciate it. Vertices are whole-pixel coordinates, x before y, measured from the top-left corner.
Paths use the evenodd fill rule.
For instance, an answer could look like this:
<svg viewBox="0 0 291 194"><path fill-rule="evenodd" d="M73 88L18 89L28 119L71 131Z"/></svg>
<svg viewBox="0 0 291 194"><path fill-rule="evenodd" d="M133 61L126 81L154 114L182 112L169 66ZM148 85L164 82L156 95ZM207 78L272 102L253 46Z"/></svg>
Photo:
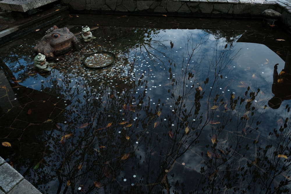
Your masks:
<svg viewBox="0 0 291 194"><path fill-rule="evenodd" d="M33 67L47 29L0 49L0 156L39 191L290 192L283 27L165 15L56 25L96 39L49 60L50 73ZM113 64L85 67L98 52Z"/></svg>

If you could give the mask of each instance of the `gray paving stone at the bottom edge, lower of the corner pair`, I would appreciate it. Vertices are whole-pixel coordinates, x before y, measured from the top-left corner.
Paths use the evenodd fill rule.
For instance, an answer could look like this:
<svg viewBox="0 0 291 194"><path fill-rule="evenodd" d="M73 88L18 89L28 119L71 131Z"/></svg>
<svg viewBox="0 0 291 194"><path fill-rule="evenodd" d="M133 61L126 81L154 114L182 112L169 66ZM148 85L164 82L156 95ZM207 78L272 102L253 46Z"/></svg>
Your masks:
<svg viewBox="0 0 291 194"><path fill-rule="evenodd" d="M41 194L31 183L22 179L11 191L7 194Z"/></svg>

